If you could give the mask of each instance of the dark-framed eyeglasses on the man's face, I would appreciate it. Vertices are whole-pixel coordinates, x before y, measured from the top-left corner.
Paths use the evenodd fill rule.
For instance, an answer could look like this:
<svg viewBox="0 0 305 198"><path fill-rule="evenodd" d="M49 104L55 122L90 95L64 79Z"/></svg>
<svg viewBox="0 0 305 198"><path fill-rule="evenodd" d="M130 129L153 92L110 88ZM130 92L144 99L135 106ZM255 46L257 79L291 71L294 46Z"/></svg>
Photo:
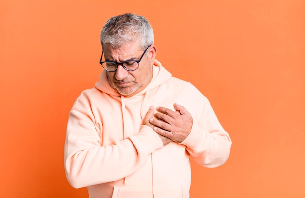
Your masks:
<svg viewBox="0 0 305 198"><path fill-rule="evenodd" d="M147 51L147 49L149 48L150 46L148 46L145 51L143 52L141 58L136 61L136 60L129 60L129 61L124 61L122 63L116 63L116 62L113 62L113 61L102 61L102 58L103 58L103 53L104 51L102 52L102 56L100 57L100 61L99 63L103 66L103 68L106 70L106 71L116 71L117 70L117 67L119 65L123 66L124 69L126 69L127 71L134 71L136 69L139 68L139 62L142 60L145 52Z"/></svg>

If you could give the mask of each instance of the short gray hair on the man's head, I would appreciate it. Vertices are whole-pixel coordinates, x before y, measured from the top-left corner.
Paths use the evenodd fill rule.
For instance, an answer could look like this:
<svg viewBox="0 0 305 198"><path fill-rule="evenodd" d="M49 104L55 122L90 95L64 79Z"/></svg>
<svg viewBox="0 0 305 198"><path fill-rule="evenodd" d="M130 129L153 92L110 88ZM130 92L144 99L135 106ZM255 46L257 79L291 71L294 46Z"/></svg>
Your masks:
<svg viewBox="0 0 305 198"><path fill-rule="evenodd" d="M140 38L141 48L144 50L153 44L152 26L143 16L126 13L110 18L103 27L100 40L102 48L110 44L113 48L119 48L128 41L136 41Z"/></svg>

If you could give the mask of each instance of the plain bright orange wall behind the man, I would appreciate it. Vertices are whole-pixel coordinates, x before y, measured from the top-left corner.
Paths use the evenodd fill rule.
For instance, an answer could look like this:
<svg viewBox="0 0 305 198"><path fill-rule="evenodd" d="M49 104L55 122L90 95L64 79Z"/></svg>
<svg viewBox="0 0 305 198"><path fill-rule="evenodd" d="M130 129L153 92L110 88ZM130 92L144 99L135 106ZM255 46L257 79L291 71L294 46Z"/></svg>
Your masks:
<svg viewBox="0 0 305 198"><path fill-rule="evenodd" d="M88 197L65 178L65 128L102 71L103 24L125 12L233 140L225 165L192 162L191 198L304 198L304 0L0 0L0 197Z"/></svg>

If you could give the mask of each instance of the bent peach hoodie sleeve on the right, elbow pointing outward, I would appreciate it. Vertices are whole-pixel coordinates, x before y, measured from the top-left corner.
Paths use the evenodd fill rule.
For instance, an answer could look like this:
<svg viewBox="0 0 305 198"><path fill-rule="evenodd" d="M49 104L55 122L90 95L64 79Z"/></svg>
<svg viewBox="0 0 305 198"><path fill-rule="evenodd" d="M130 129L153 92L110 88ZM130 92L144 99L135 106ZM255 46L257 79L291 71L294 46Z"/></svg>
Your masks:
<svg viewBox="0 0 305 198"><path fill-rule="evenodd" d="M213 168L226 162L232 142L219 123L208 99L204 97L201 103L202 107L197 106L201 113L193 117L191 132L181 144L186 145L196 163Z"/></svg>

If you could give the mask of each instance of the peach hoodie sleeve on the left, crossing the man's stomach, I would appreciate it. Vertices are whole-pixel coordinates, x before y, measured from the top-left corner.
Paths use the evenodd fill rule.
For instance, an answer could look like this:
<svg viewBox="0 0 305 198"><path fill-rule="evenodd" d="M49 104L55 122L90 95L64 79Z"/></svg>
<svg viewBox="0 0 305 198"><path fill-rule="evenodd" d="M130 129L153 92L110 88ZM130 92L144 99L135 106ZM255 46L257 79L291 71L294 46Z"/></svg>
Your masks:
<svg viewBox="0 0 305 198"><path fill-rule="evenodd" d="M132 137L101 146L92 112L70 112L65 141L65 172L72 187L81 188L122 179L136 171L163 144L142 125Z"/></svg>

